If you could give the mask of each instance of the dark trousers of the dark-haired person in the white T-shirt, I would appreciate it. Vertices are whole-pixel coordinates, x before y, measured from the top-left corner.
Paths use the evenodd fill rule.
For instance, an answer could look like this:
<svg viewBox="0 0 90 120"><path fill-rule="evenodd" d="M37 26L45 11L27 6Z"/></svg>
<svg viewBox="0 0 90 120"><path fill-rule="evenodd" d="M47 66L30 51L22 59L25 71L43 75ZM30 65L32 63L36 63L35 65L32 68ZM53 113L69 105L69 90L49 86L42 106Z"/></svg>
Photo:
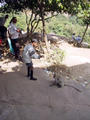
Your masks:
<svg viewBox="0 0 90 120"><path fill-rule="evenodd" d="M16 59L19 58L19 55L20 55L19 46L16 46L17 42L18 42L18 39L11 39L11 44L12 44L12 48L14 49Z"/></svg>

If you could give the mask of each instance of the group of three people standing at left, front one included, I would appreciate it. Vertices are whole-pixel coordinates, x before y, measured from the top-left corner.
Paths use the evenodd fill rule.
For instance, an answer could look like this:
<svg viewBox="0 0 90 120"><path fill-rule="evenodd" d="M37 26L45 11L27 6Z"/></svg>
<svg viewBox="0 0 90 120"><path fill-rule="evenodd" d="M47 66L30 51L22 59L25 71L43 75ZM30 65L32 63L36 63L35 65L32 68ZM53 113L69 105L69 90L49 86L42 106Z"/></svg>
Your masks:
<svg viewBox="0 0 90 120"><path fill-rule="evenodd" d="M16 27L17 18L13 17L10 20L10 24L8 28L4 26L5 21L8 18L8 15L6 15L3 18L2 18L3 20L1 21L3 22L3 24L1 24L0 22L1 36L3 36L4 38L5 36L3 33L8 32L9 38L11 40L11 45L14 50L15 59L18 59L19 53L20 53L18 41L19 41L19 34L21 33L21 31L20 29L17 29ZM33 77L33 63L32 63L32 59L40 59L40 56L36 53L35 48L34 48L37 46L37 42L38 41L36 39L33 39L32 43L29 43L29 41L27 41L27 43L25 44L24 50L23 50L23 54L22 54L22 59L27 66L27 77L29 77L30 80L37 80L36 78Z"/></svg>

